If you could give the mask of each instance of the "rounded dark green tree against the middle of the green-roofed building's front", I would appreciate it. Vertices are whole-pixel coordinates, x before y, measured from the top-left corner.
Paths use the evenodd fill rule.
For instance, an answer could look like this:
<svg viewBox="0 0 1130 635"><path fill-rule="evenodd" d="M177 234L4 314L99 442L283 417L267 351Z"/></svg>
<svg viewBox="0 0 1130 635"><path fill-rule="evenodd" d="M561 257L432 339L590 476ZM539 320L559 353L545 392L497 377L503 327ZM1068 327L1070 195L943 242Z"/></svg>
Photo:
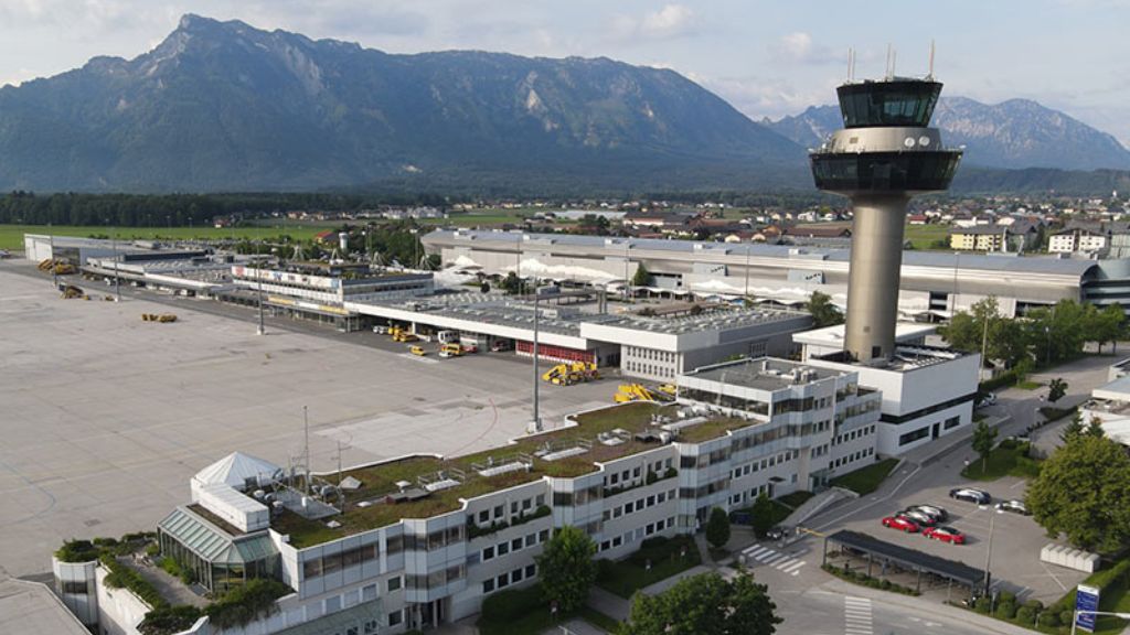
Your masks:
<svg viewBox="0 0 1130 635"><path fill-rule="evenodd" d="M584 606L597 581L597 545L580 529L565 525L554 532L541 555L536 556L541 593L557 610L570 614Z"/></svg>

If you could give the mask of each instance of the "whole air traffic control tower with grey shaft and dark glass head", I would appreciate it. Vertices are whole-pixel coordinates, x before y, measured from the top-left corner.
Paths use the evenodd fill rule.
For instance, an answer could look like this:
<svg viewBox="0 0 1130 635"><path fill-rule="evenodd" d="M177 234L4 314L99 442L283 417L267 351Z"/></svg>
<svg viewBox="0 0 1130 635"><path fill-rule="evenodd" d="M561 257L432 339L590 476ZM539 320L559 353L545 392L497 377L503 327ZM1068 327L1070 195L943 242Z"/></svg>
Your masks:
<svg viewBox="0 0 1130 635"><path fill-rule="evenodd" d="M844 129L810 158L817 188L851 198L844 350L867 364L895 350L906 205L915 194L946 190L962 151L944 148L929 128L941 93L930 76L849 80L836 93Z"/></svg>

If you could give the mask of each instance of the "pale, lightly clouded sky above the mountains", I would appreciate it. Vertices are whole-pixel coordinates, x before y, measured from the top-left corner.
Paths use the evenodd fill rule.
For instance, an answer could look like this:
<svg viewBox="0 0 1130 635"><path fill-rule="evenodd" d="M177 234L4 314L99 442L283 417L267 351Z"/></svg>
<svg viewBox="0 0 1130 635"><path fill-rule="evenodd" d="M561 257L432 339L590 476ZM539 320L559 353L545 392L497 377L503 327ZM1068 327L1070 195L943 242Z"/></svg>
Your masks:
<svg viewBox="0 0 1130 635"><path fill-rule="evenodd" d="M476 49L671 68L755 120L833 103L846 76L1035 99L1130 146L1130 0L0 0L0 85L137 56L183 14L391 53Z"/></svg>

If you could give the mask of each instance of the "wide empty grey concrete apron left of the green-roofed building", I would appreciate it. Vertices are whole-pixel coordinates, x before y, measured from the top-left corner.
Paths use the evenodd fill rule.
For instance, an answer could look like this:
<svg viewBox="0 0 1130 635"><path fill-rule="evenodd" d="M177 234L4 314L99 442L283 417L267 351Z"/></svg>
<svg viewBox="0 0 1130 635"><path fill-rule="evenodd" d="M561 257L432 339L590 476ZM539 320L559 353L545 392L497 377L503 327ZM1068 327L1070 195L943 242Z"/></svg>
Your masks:
<svg viewBox="0 0 1130 635"><path fill-rule="evenodd" d="M210 301L123 289L60 299L26 261L0 262L0 577L50 569L64 539L151 530L189 478L229 452L316 470L504 444L531 418L530 363L419 358L370 332L269 321ZM82 286L82 282L78 282ZM112 292L111 292L112 293ZM174 312L172 324L141 313ZM547 427L608 406L616 380L541 385Z"/></svg>

